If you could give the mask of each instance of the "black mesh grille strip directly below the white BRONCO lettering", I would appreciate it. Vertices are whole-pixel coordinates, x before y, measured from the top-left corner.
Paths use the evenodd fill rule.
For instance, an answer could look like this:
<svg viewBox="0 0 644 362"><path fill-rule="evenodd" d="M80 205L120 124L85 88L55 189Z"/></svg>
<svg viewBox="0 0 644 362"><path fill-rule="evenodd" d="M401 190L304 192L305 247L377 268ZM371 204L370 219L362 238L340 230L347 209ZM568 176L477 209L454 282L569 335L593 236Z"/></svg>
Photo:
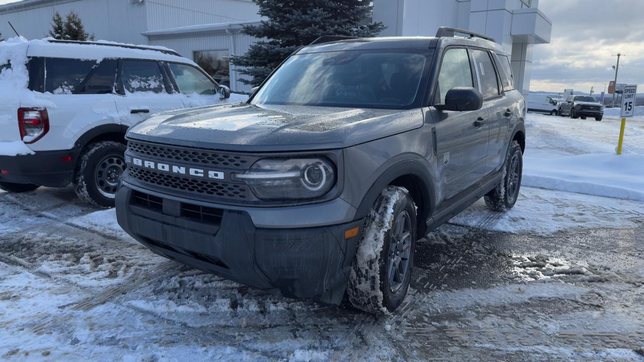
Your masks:
<svg viewBox="0 0 644 362"><path fill-rule="evenodd" d="M243 184L229 184L209 180L195 180L193 178L166 175L149 171L136 166L128 167L128 175L136 180L157 186L169 187L201 195L213 195L243 200L247 198L248 188Z"/></svg>

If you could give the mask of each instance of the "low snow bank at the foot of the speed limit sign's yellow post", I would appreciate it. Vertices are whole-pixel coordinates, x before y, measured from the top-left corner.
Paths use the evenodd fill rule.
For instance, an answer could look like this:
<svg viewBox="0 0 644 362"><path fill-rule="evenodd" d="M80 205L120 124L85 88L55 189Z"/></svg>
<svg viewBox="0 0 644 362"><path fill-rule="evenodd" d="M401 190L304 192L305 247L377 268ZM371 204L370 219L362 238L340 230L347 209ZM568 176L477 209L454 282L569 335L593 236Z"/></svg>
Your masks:
<svg viewBox="0 0 644 362"><path fill-rule="evenodd" d="M522 184L644 201L644 155L592 153L554 159L526 156Z"/></svg>

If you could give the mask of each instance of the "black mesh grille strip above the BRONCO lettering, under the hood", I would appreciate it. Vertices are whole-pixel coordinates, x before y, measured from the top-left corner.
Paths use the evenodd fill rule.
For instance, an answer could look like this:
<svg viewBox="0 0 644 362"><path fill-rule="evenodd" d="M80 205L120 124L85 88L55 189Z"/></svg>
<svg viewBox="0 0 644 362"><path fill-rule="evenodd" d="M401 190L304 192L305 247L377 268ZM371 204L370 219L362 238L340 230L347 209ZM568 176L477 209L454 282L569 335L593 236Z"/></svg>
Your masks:
<svg viewBox="0 0 644 362"><path fill-rule="evenodd" d="M140 155L165 158L166 160L191 162L193 164L248 168L252 163L252 159L250 157L240 155L231 155L202 149L160 146L135 141L128 142L128 149L129 151Z"/></svg>

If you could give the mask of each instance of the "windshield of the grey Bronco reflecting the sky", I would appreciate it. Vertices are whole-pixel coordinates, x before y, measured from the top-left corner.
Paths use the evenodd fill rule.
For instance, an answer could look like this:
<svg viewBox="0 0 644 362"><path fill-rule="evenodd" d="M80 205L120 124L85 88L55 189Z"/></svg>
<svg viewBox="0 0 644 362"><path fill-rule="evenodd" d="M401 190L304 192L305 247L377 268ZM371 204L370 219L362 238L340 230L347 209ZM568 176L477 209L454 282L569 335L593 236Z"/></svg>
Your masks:
<svg viewBox="0 0 644 362"><path fill-rule="evenodd" d="M428 50L350 50L290 57L261 87L252 104L354 108L410 107Z"/></svg>

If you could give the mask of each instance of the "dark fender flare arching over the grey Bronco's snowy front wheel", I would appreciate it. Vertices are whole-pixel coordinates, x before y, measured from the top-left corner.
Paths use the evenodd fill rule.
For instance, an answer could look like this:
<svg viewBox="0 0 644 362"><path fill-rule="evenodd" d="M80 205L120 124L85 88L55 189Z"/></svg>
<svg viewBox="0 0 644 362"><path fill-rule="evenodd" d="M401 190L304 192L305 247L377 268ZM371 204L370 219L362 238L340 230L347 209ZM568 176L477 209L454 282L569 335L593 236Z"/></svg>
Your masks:
<svg viewBox="0 0 644 362"><path fill-rule="evenodd" d="M395 161L394 161L395 162ZM378 198L384 187L391 184L393 180L400 176L412 175L416 178L419 186L420 196L422 198L422 205L416 205L419 211L418 222L419 225L426 225L426 218L428 218L436 207L434 178L431 176L430 170L425 164L419 160L407 158L395 162L391 166L384 166L386 169L380 173L380 176L375 180L368 191L363 196L360 205L357 207L355 218L364 218L369 213L375 200Z"/></svg>

